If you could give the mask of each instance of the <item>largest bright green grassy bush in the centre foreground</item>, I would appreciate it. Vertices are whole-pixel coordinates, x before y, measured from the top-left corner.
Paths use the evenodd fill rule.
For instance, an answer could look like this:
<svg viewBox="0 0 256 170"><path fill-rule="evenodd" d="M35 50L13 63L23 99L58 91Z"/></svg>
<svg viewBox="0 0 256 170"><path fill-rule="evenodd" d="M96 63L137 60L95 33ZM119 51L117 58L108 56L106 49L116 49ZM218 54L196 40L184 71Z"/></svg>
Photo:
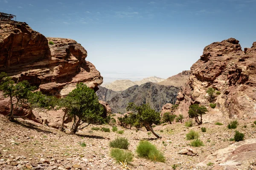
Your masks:
<svg viewBox="0 0 256 170"><path fill-rule="evenodd" d="M157 150L157 147L148 141L140 141L136 152L138 153L138 156L150 159L152 161L165 161L163 153Z"/></svg>

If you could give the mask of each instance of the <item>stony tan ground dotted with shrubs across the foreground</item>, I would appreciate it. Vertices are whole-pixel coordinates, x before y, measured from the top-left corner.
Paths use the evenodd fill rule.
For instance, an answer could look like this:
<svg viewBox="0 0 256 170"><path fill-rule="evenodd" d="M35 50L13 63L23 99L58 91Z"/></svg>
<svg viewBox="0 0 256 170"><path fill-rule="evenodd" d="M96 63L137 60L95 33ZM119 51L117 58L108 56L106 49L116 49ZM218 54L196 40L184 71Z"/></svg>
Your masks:
<svg viewBox="0 0 256 170"><path fill-rule="evenodd" d="M154 129L163 136L155 139L146 131L124 129L124 134L115 132L102 132L91 130L92 125L79 131L77 135L70 135L58 130L24 121L9 122L6 117L0 115L0 170L119 170L120 165L109 155L109 142L117 136L127 137L130 142L129 150L134 153L134 161L129 165L134 170L172 170L173 164L178 164L177 170L210 170L215 165L199 167L197 164L204 161L208 155L216 150L233 144L229 141L233 138L235 130L227 128L228 121L224 125L214 125L214 122L203 124L207 132L202 133L199 126L185 127L183 124L157 126ZM245 139L256 137L256 127L252 122L239 122L236 130L245 134ZM247 125L246 128L243 126ZM109 127L101 125L98 127ZM190 141L186 140L189 130L198 131L203 147L190 147ZM161 131L160 131L161 130ZM137 156L135 150L140 140L149 140L157 145L164 153L165 163L152 162ZM86 144L86 146L84 146ZM178 154L184 148L191 148L197 156Z"/></svg>

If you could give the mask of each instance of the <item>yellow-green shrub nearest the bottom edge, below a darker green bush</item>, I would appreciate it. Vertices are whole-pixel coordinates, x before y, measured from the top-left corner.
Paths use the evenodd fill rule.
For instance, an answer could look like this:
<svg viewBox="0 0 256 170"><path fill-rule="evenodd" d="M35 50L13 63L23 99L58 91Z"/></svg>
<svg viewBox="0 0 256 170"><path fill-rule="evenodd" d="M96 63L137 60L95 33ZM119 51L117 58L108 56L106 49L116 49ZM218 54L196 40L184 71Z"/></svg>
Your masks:
<svg viewBox="0 0 256 170"><path fill-rule="evenodd" d="M119 163L119 161L120 162L126 161L127 163L129 163L133 159L133 154L130 151L124 151L119 148L111 149L110 155L111 157L116 159L117 163Z"/></svg>

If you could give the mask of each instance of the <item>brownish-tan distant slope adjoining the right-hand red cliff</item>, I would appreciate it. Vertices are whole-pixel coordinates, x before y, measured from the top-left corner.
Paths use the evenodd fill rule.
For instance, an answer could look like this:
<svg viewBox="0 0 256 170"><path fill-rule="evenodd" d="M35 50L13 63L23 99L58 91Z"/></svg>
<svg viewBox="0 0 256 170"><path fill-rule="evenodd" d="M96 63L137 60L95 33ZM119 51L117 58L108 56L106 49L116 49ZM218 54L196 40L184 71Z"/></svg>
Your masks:
<svg viewBox="0 0 256 170"><path fill-rule="evenodd" d="M186 82L189 80L190 71L182 71L181 73L169 77L162 82L159 82L160 85L173 85L176 87L185 86Z"/></svg>

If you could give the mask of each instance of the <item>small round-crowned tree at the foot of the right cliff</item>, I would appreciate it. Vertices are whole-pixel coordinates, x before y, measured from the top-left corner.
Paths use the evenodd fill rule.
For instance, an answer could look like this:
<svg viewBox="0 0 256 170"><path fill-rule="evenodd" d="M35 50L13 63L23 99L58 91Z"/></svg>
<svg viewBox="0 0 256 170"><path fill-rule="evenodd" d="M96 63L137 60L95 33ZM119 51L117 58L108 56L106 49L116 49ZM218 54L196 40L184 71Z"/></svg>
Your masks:
<svg viewBox="0 0 256 170"><path fill-rule="evenodd" d="M195 118L195 122L197 122L198 125L201 125L203 123L202 115L206 114L206 112L207 112L207 108L204 106L199 106L198 104L189 106L189 117ZM200 117L200 119L198 117Z"/></svg>

